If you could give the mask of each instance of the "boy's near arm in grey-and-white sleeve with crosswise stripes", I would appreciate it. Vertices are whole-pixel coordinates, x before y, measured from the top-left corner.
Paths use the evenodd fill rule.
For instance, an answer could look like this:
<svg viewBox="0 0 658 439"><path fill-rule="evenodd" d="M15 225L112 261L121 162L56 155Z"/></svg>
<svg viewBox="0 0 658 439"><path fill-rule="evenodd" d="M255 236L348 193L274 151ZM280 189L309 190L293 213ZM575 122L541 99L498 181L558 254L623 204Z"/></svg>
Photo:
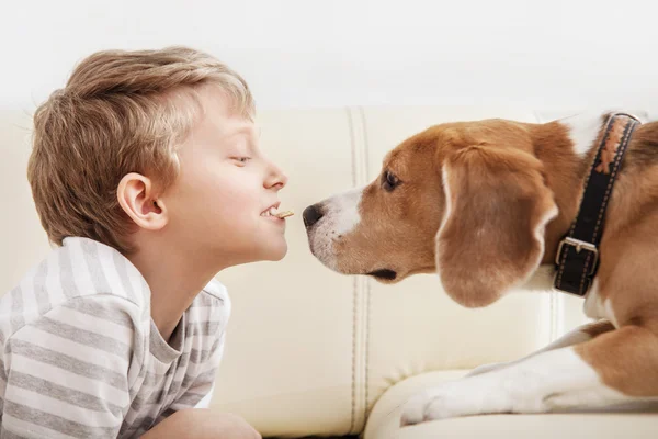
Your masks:
<svg viewBox="0 0 658 439"><path fill-rule="evenodd" d="M115 438L140 364L137 306L78 297L23 326L4 344L0 436ZM137 356L137 357L135 357Z"/></svg>

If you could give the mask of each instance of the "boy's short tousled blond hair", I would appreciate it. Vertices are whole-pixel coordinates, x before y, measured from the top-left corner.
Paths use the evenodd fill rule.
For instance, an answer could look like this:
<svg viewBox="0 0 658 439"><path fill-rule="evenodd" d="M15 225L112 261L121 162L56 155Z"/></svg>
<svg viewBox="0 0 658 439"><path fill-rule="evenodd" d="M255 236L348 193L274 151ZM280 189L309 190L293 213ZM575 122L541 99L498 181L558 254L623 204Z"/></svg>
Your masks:
<svg viewBox="0 0 658 439"><path fill-rule="evenodd" d="M77 66L34 114L27 179L50 241L81 236L132 250L135 225L118 204L118 182L139 172L164 191L175 180L177 147L203 111L180 98L198 103L204 85L219 86L234 112L253 117L247 82L198 50L99 52Z"/></svg>

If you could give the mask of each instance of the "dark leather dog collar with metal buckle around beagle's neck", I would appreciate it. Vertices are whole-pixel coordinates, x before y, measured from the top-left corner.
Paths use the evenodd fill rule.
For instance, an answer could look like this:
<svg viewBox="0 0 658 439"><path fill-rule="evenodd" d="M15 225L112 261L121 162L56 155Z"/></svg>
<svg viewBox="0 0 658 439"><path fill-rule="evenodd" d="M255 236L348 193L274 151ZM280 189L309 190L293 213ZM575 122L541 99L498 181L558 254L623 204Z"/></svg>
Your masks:
<svg viewBox="0 0 658 439"><path fill-rule="evenodd" d="M583 296L597 274L601 256L605 210L624 153L639 120L626 113L613 113L597 150L576 219L563 238L555 257L554 286L558 291Z"/></svg>

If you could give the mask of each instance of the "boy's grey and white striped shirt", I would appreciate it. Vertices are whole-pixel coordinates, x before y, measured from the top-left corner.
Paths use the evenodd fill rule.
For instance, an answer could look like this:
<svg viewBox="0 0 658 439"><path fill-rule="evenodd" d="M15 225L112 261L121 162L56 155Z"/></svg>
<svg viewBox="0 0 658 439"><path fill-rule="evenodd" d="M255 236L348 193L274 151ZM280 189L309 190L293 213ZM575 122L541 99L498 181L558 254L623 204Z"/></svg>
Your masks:
<svg viewBox="0 0 658 439"><path fill-rule="evenodd" d="M0 438L133 438L213 386L230 314L211 282L169 342L115 249L66 238L0 297Z"/></svg>

